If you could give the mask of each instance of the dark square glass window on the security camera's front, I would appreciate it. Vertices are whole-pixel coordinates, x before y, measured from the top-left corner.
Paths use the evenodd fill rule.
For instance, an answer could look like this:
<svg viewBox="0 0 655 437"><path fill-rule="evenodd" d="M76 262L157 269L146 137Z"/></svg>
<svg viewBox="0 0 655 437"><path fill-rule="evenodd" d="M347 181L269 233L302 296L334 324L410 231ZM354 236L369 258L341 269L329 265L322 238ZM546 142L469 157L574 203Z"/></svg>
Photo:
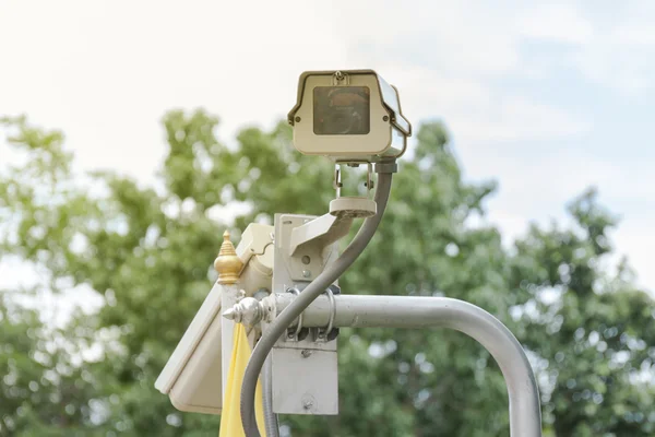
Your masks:
<svg viewBox="0 0 655 437"><path fill-rule="evenodd" d="M368 86L314 87L313 131L318 135L359 135L370 130Z"/></svg>

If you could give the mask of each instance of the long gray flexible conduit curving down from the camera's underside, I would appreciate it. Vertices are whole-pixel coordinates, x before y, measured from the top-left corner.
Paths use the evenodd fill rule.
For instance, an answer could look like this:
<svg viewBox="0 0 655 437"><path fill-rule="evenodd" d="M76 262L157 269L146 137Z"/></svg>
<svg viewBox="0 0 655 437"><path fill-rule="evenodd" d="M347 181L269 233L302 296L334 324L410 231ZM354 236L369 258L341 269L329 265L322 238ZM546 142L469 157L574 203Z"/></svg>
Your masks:
<svg viewBox="0 0 655 437"><path fill-rule="evenodd" d="M248 362L248 366L246 367L243 383L241 385L241 423L247 437L261 437L254 414L254 391L257 388L257 380L269 353L275 345L275 342L277 342L277 339L279 339L294 320L302 314L305 308L323 294L325 290L344 274L344 272L361 255L378 229L378 225L382 221L382 215L386 209L386 202L389 201L389 194L391 192L391 179L392 173L379 173L378 188L376 189L374 198L376 203L378 204L377 214L364 222L346 250L344 250L336 261L330 264L309 285L307 285L298 297L275 318L266 332L259 342L257 342L252 355L250 356L250 361Z"/></svg>

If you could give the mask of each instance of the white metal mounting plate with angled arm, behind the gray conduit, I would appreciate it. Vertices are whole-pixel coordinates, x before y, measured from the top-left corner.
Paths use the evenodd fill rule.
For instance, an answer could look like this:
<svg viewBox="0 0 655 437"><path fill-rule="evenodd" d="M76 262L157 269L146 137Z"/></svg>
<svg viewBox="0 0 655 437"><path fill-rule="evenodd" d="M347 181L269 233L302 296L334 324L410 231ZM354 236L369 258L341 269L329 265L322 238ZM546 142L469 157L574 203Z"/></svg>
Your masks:
<svg viewBox="0 0 655 437"><path fill-rule="evenodd" d="M273 294L303 290L334 262L335 243L352 223L330 214L275 214ZM266 329L264 319L262 330ZM295 334L282 335L271 351L275 413L338 414L336 339L309 331L300 326Z"/></svg>

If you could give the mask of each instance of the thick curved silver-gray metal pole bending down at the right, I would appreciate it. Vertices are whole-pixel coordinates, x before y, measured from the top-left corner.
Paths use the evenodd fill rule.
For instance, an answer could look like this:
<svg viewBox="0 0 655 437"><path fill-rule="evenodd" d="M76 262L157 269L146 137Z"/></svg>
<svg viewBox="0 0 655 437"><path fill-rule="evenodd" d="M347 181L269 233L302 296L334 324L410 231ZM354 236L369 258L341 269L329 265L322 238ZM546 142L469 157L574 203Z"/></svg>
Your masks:
<svg viewBox="0 0 655 437"><path fill-rule="evenodd" d="M294 298L290 294L276 295L276 311L279 314ZM334 299L335 327L443 327L477 340L491 353L508 386L511 436L541 436L539 390L532 366L516 338L489 312L448 297L336 295ZM321 296L305 310L302 324L325 327L330 312L327 297Z"/></svg>

